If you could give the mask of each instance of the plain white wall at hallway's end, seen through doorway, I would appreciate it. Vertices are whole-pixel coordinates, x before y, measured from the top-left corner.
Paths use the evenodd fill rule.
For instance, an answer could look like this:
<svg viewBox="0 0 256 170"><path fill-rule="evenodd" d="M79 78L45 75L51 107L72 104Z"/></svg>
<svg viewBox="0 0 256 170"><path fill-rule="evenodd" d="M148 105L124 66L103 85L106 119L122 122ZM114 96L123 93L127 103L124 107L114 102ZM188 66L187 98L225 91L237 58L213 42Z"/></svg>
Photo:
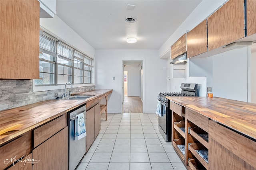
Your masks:
<svg viewBox="0 0 256 170"><path fill-rule="evenodd" d="M140 67L124 67L128 71L127 96L140 96Z"/></svg>

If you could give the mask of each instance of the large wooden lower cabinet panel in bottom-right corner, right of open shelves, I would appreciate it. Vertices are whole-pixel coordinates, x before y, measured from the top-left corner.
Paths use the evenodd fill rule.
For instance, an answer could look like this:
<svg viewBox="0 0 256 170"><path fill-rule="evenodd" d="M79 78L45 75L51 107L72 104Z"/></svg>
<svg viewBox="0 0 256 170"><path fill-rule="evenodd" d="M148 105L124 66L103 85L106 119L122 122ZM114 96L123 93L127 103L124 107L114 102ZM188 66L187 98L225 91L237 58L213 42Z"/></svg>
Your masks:
<svg viewBox="0 0 256 170"><path fill-rule="evenodd" d="M256 142L209 121L209 169L256 170Z"/></svg>

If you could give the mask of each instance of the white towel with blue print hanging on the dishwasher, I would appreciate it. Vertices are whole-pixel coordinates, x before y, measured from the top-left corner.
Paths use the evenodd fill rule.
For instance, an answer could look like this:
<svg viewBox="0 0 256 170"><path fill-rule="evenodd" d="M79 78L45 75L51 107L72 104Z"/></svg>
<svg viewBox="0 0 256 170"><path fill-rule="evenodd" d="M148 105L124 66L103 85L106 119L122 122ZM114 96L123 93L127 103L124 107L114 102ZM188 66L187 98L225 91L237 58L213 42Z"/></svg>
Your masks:
<svg viewBox="0 0 256 170"><path fill-rule="evenodd" d="M85 129L85 121L84 121L84 113L80 113L75 119L75 141L86 137L86 129Z"/></svg>

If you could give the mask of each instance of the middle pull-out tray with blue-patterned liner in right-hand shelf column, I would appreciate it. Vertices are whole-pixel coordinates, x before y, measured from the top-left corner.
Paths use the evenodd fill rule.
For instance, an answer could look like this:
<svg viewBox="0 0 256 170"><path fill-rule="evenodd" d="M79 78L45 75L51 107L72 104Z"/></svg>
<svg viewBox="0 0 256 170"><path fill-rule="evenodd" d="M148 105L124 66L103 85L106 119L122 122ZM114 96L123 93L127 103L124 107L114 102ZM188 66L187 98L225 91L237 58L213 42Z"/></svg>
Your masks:
<svg viewBox="0 0 256 170"><path fill-rule="evenodd" d="M192 143L189 146L190 152L196 157L196 159L208 170L208 149L206 149L200 143Z"/></svg>

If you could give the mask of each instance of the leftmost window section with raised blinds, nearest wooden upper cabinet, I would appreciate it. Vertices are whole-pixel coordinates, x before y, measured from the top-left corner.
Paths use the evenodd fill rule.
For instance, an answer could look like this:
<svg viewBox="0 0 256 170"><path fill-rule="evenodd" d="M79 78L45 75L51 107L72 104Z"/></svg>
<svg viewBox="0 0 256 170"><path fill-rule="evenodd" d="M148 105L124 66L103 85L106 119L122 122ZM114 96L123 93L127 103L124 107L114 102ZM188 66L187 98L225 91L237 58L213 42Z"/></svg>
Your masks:
<svg viewBox="0 0 256 170"><path fill-rule="evenodd" d="M55 85L55 58L57 56L57 41L44 33L39 38L39 80L36 85Z"/></svg>

